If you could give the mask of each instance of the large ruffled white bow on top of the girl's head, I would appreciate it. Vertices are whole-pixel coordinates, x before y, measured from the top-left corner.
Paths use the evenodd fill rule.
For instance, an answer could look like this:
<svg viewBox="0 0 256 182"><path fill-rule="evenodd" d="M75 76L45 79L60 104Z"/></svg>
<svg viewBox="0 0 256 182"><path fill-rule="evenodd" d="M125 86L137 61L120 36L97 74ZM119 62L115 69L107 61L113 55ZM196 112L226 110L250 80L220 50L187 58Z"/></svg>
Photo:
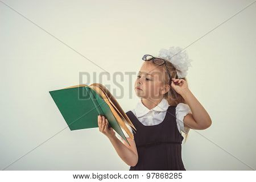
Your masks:
<svg viewBox="0 0 256 182"><path fill-rule="evenodd" d="M160 49L158 57L170 61L177 69L178 78L187 76L188 67L192 67L191 59L188 59L187 51L181 52L180 47L170 47L169 49Z"/></svg>

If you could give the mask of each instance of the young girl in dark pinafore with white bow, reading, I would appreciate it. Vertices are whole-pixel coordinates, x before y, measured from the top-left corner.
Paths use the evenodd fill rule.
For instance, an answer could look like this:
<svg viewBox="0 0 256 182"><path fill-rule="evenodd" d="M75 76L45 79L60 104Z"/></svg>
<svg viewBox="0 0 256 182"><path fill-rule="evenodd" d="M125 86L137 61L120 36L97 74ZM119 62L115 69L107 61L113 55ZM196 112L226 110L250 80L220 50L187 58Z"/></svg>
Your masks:
<svg viewBox="0 0 256 182"><path fill-rule="evenodd" d="M134 84L141 100L126 113L137 129L133 133L127 125L134 140L124 132L130 146L119 135L115 136L108 119L98 116L99 130L109 138L130 170L185 170L181 131L187 138L189 129L204 130L212 124L209 114L188 88L185 76L192 60L180 51L179 47L170 47L161 49L158 57L143 56Z"/></svg>

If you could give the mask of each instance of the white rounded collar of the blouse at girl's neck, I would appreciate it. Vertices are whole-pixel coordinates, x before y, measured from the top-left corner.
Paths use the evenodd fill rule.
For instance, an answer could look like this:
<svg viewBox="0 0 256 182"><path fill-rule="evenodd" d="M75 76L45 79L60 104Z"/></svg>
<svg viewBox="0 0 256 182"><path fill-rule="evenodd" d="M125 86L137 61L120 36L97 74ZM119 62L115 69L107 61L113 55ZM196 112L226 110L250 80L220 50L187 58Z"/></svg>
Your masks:
<svg viewBox="0 0 256 182"><path fill-rule="evenodd" d="M155 106L153 109L151 110L155 110L155 111L166 111L168 109L170 105L168 104L168 101L163 98L161 102L159 102L159 104L157 106ZM137 117L142 117L143 115L147 114L149 111L151 111L150 109L148 109L146 106L144 106L144 104L142 103L142 101L140 100L137 104L137 106L135 107L135 114Z"/></svg>

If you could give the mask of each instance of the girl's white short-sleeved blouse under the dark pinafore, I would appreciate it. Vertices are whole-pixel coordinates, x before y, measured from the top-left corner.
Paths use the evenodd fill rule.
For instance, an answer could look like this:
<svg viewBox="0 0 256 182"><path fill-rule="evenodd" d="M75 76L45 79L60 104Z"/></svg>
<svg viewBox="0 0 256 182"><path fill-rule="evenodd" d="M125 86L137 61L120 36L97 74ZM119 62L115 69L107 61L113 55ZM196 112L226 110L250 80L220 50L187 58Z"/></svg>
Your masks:
<svg viewBox="0 0 256 182"><path fill-rule="evenodd" d="M135 107L135 109L131 110L133 114L138 118L138 120L146 126L152 126L152 125L158 125L163 121L163 119L166 117L167 109L170 105L168 104L168 101L163 98L163 100L155 106L153 109L148 109L146 106L142 104L142 101L140 100ZM191 109L187 104L179 103L176 106L176 122L177 122L177 129L180 131L183 131L183 133L187 134L190 130L187 127L184 127L183 119L185 115L188 113L191 113ZM131 133L133 133L133 130L130 125L126 122L126 126L129 128ZM121 128L122 129L122 128ZM126 138L129 138L129 135L126 133L125 130L123 130L123 134L125 134ZM121 136L116 133L117 138L122 140ZM133 133L134 134L134 133Z"/></svg>

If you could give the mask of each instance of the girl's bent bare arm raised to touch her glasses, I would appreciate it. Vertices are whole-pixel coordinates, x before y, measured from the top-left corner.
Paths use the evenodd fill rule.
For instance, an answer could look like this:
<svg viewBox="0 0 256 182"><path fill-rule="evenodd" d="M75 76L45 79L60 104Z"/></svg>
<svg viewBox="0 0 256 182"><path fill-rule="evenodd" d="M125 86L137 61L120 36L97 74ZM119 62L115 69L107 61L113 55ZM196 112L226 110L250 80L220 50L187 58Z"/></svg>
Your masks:
<svg viewBox="0 0 256 182"><path fill-rule="evenodd" d="M183 119L184 126L196 130L205 130L210 127L212 120L204 107L188 89L187 81L172 78L171 86L184 98L192 111L192 114L185 115Z"/></svg>

